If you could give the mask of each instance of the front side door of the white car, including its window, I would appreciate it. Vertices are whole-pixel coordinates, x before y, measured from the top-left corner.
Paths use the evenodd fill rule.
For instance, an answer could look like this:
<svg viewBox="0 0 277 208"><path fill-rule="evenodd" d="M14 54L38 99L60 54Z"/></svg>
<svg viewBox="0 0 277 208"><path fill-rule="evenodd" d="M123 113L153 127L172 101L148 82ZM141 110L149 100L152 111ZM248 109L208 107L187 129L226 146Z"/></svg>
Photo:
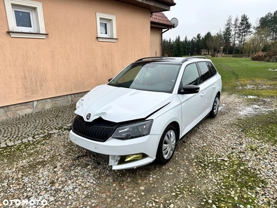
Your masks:
<svg viewBox="0 0 277 208"><path fill-rule="evenodd" d="M203 119L203 102L204 87L200 83L199 71L197 64L191 63L184 69L179 89L186 85L197 85L200 87L199 92L195 94L181 94L178 97L181 101L181 136L185 135L199 121Z"/></svg>

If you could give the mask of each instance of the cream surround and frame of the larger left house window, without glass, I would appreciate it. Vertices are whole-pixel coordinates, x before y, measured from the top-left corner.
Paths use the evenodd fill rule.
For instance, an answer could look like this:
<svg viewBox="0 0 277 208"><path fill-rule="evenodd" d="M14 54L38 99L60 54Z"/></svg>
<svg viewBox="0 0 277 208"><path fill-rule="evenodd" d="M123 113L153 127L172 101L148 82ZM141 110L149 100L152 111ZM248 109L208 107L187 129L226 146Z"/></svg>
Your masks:
<svg viewBox="0 0 277 208"><path fill-rule="evenodd" d="M4 0L8 19L8 33L11 37L46 38L42 3L30 0ZM15 21L15 8L28 10L33 17L33 30L19 27Z"/></svg>

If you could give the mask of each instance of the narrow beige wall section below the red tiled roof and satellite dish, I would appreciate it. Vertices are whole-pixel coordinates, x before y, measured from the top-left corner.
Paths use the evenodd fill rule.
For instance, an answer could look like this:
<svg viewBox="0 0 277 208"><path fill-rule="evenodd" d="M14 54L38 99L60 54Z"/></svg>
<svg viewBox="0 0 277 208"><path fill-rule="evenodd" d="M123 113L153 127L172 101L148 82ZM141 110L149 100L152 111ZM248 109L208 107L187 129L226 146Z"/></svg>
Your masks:
<svg viewBox="0 0 277 208"><path fill-rule="evenodd" d="M162 30L160 28L151 27L151 56L161 56L161 32Z"/></svg>

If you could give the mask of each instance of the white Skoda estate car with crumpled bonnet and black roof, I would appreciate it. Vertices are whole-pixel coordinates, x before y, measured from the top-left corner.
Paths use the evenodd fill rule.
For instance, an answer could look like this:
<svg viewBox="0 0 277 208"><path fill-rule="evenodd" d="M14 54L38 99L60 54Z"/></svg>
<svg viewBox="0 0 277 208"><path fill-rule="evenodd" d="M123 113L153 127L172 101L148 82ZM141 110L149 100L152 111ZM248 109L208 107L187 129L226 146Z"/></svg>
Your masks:
<svg viewBox="0 0 277 208"><path fill-rule="evenodd" d="M114 170L166 164L178 139L217 115L221 90L204 57L142 58L76 103L69 137Z"/></svg>

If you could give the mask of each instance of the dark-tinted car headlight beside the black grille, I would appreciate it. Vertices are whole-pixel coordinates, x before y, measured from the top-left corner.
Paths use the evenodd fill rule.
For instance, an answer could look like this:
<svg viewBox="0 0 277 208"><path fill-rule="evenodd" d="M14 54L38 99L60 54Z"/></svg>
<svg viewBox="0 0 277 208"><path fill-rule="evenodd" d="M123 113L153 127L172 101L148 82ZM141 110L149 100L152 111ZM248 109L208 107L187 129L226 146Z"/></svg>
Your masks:
<svg viewBox="0 0 277 208"><path fill-rule="evenodd" d="M111 137L116 139L134 139L150 134L153 120L132 123L116 128L116 131Z"/></svg>

